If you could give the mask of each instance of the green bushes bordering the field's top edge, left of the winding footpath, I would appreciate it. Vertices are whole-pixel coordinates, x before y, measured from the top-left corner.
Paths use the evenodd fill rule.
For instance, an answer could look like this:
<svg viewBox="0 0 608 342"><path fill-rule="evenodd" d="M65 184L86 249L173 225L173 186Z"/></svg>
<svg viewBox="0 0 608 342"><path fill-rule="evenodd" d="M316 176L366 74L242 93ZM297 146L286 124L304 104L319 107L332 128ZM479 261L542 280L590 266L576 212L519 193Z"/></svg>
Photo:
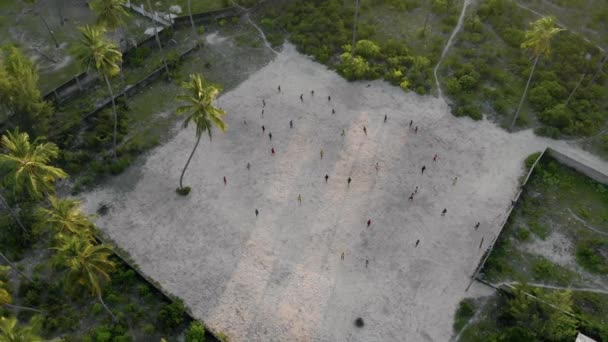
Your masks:
<svg viewBox="0 0 608 342"><path fill-rule="evenodd" d="M352 47L355 9L340 0L298 1L281 13L270 10L262 25L271 34L275 44L282 41L275 34L277 27L290 33L289 39L299 51L327 64L348 80L383 78L404 90L428 94L434 87L433 67L439 59L441 40L429 53L415 53L408 42L376 32L376 26L360 21L357 24L356 43ZM413 11L421 1L364 1L359 15L372 11L375 6L391 6L395 11ZM458 9L451 1L432 1L428 16L445 18L448 27L455 24ZM450 26L451 25L451 26ZM427 28L421 27L419 39L424 40ZM430 32L430 28L428 29ZM380 39L379 37L383 37Z"/></svg>

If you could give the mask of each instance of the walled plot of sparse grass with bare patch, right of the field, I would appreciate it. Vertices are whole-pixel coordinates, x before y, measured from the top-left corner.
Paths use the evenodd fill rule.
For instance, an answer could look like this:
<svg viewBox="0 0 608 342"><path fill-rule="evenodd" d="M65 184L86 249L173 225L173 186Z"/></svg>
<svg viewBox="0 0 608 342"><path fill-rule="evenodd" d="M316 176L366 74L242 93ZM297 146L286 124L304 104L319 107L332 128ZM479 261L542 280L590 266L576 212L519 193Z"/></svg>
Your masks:
<svg viewBox="0 0 608 342"><path fill-rule="evenodd" d="M597 275L608 273L608 241L585 224L607 231L607 207L605 185L543 156L490 254L482 277L497 283L597 286L589 283L593 279L593 284L606 284ZM559 238L551 238L552 234ZM563 246L560 241L564 239L572 247ZM526 247L532 243L546 247ZM569 257L580 267L556 263L551 254L556 250L572 251L560 258Z"/></svg>

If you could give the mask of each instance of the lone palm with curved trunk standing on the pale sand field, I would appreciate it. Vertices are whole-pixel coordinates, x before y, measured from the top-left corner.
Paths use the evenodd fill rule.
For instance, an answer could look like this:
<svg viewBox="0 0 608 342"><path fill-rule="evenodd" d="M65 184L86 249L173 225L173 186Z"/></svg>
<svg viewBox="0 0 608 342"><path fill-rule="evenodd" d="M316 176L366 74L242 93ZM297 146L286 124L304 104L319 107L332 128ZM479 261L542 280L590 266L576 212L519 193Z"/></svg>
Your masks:
<svg viewBox="0 0 608 342"><path fill-rule="evenodd" d="M211 128L213 126L224 132L226 130L226 123L223 120L223 116L226 115L226 112L223 109L213 106L213 101L215 101L219 95L220 89L207 83L203 75L190 75L190 81L183 82L182 88L186 92L179 95L177 99L184 101L187 104L178 107L177 114L187 113L188 116L184 120L184 128L188 127L190 122L193 122L196 125L196 144L194 144L192 153L190 153L190 157L188 157L188 161L182 170L182 174L179 177L179 188L177 188L178 193L187 194L189 188L184 189L184 173L186 173L190 160L192 160L192 156L201 141L201 136L207 131L209 134L209 141L211 141Z"/></svg>

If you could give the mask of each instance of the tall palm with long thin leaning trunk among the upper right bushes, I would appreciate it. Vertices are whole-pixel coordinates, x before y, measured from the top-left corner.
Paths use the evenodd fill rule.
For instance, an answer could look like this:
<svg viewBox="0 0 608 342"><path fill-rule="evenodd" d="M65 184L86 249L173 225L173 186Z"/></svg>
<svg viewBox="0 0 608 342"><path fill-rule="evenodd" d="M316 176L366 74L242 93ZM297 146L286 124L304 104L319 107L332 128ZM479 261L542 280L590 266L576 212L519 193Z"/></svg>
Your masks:
<svg viewBox="0 0 608 342"><path fill-rule="evenodd" d="M537 21L531 24L532 30L526 31L525 40L521 43L521 48L530 52L532 57L534 58L534 64L532 65L532 70L530 70L530 76L528 77L528 82L526 83L526 88L524 88L524 93L521 96L519 101L519 105L517 106L517 110L515 111L515 115L513 115L513 121L511 121L511 126L509 130L513 130L513 126L515 126L515 121L519 116L519 112L521 111L521 106L526 99L526 94L528 93L528 87L530 86L530 81L532 81L532 75L534 75L534 70L536 70L536 65L538 64L538 60L541 56L549 56L551 53L551 39L563 29L560 29L555 26L555 18L554 17L544 17L540 18Z"/></svg>

